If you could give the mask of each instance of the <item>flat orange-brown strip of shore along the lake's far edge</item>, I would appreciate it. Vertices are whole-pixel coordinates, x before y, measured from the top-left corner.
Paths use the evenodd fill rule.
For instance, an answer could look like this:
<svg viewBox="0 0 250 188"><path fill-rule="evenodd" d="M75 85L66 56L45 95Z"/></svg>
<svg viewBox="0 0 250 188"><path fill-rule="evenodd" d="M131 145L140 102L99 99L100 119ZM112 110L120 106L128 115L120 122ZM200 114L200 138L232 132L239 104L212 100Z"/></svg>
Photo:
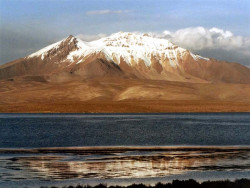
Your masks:
<svg viewBox="0 0 250 188"><path fill-rule="evenodd" d="M0 113L230 113L250 112L250 102L237 101L65 101L0 103Z"/></svg>

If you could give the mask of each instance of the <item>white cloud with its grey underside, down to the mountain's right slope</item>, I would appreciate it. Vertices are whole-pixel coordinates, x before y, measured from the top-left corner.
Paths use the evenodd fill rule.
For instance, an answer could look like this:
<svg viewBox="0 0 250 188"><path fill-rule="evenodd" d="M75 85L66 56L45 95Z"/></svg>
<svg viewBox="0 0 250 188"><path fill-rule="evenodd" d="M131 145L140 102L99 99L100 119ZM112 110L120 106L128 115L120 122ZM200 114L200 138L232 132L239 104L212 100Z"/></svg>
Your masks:
<svg viewBox="0 0 250 188"><path fill-rule="evenodd" d="M203 56L250 65L250 38L236 36L231 31L216 27L190 27L151 35L168 39Z"/></svg>

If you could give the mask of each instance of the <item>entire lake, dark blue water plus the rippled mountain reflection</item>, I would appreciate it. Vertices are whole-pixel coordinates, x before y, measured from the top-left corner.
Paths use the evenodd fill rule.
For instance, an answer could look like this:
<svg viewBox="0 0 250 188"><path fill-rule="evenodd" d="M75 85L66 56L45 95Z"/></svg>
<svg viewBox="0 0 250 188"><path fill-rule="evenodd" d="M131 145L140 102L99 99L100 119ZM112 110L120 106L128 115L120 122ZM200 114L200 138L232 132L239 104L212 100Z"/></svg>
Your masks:
<svg viewBox="0 0 250 188"><path fill-rule="evenodd" d="M250 113L0 114L0 187L250 177Z"/></svg>

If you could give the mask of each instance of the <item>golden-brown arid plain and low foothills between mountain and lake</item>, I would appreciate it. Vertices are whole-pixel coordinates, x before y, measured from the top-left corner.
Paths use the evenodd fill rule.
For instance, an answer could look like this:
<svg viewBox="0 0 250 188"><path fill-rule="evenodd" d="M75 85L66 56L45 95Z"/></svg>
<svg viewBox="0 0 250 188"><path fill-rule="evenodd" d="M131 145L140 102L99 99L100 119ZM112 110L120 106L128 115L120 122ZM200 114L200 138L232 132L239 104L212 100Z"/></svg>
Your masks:
<svg viewBox="0 0 250 188"><path fill-rule="evenodd" d="M248 112L250 85L138 79L0 81L0 112Z"/></svg>

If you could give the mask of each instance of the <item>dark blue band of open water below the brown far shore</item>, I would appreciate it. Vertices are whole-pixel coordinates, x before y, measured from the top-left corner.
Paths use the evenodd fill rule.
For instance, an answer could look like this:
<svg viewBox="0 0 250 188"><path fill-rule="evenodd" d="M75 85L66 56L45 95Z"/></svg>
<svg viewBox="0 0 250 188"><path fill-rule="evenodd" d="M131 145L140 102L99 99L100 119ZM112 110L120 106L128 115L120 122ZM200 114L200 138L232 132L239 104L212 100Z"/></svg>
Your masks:
<svg viewBox="0 0 250 188"><path fill-rule="evenodd" d="M250 145L250 113L1 114L0 147Z"/></svg>

